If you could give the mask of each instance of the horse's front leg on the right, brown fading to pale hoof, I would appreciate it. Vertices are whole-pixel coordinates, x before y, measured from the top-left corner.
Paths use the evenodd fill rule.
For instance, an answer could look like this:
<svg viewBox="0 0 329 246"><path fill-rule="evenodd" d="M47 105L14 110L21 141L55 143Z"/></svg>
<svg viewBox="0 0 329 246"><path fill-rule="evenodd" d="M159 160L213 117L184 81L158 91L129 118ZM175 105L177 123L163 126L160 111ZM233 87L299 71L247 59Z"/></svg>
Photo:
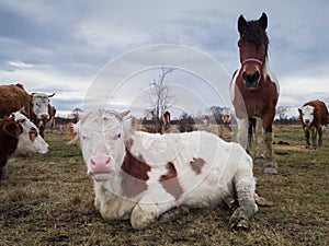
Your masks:
<svg viewBox="0 0 329 246"><path fill-rule="evenodd" d="M273 153L273 134L272 134L272 124L274 120L275 110L273 114L265 115L263 118L263 128L264 128L264 143L265 143L265 153L264 153L264 173L268 174L277 174L277 164L274 160Z"/></svg>

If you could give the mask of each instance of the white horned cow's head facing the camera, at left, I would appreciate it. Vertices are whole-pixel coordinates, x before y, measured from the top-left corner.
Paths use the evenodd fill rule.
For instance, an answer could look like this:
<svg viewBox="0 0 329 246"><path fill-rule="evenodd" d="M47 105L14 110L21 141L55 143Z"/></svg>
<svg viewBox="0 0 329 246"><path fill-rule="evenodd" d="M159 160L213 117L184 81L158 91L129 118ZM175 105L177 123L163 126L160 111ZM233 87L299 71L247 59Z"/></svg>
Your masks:
<svg viewBox="0 0 329 246"><path fill-rule="evenodd" d="M33 114L36 116L37 119L44 121L47 121L49 119L49 97L54 95L55 93L53 93L52 95L47 95L45 93L32 93Z"/></svg>

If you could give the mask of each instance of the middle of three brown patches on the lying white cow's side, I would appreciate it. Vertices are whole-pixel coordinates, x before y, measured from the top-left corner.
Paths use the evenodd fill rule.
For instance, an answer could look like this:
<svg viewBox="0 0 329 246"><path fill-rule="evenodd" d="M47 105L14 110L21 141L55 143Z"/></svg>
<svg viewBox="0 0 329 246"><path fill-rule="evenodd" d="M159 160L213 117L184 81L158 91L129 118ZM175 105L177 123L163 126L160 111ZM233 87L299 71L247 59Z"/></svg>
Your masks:
<svg viewBox="0 0 329 246"><path fill-rule="evenodd" d="M171 194L174 199L179 199L179 197L183 194L183 188L181 187L178 178L177 178L177 169L172 162L167 164L167 174L161 175L159 181L167 192Z"/></svg>

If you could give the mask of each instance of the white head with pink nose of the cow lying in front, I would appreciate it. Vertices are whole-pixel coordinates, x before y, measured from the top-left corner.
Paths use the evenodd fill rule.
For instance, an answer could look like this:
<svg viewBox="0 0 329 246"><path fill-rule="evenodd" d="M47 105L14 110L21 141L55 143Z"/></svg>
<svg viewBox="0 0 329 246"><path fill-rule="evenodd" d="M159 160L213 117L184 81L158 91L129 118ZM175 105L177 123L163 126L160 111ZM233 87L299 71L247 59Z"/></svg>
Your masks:
<svg viewBox="0 0 329 246"><path fill-rule="evenodd" d="M112 173L120 171L125 156L125 142L132 134L128 113L95 109L81 115L80 120L72 125L88 174L94 180L106 180Z"/></svg>

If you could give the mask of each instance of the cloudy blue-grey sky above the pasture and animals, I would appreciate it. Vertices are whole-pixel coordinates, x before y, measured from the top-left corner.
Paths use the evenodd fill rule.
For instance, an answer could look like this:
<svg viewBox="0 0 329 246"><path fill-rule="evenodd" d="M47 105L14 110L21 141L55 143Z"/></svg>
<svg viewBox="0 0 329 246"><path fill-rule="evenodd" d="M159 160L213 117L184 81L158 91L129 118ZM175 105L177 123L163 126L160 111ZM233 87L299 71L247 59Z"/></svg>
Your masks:
<svg viewBox="0 0 329 246"><path fill-rule="evenodd" d="M259 19L262 12L269 16L279 104L329 103L326 0L1 0L0 84L55 92L52 104L59 110L87 108L93 87L120 108L134 109L164 65L178 68L168 77L177 107L222 106L229 104L229 78L239 67L237 19ZM220 68L211 69L215 63ZM216 71L208 77L207 70Z"/></svg>

